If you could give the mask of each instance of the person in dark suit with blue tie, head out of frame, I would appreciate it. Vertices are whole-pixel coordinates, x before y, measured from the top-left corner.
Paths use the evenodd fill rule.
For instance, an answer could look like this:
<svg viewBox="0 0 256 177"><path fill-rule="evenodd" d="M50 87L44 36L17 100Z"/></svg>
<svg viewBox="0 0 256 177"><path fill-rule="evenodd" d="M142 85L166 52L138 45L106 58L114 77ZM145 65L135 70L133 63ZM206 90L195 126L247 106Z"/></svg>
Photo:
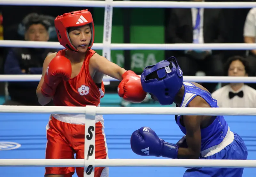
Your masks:
<svg viewBox="0 0 256 177"><path fill-rule="evenodd" d="M170 9L167 17L166 43L223 43L224 37L225 27L220 9ZM172 50L166 51L166 55L177 58L184 76L195 76L197 71L204 71L207 76L223 75L221 51ZM217 83L203 85L213 92Z"/></svg>

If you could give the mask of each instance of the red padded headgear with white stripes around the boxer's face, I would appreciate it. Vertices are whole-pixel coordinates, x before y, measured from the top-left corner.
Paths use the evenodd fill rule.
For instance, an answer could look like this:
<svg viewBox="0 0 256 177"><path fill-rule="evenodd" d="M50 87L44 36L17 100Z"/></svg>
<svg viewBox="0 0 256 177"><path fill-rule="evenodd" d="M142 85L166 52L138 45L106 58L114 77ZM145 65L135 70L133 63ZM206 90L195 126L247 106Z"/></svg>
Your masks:
<svg viewBox="0 0 256 177"><path fill-rule="evenodd" d="M71 44L67 28L84 26L87 24L90 24L92 33L92 39L87 49L89 50L92 47L94 41L94 24L91 12L89 12L87 9L82 11L73 11L69 13L64 13L63 15L55 18L54 25L60 44L68 50L78 52L78 50Z"/></svg>

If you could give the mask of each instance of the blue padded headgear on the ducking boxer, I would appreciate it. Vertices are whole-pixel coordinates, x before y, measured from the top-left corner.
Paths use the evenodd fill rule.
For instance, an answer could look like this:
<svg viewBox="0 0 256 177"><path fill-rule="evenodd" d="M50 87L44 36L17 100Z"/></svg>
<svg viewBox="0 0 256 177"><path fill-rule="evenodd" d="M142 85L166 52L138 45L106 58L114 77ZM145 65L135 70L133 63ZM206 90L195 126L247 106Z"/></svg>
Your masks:
<svg viewBox="0 0 256 177"><path fill-rule="evenodd" d="M182 74L176 58L172 56L144 68L140 81L143 90L156 96L161 105L171 105L182 87Z"/></svg>

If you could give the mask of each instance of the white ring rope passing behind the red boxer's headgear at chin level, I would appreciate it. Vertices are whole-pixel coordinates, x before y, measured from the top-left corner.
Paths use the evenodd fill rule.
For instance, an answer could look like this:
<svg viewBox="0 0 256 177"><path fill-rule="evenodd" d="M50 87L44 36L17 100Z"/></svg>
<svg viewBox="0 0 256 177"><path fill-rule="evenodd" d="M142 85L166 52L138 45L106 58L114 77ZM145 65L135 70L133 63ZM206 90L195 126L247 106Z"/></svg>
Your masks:
<svg viewBox="0 0 256 177"><path fill-rule="evenodd" d="M215 43L215 44L106 44L111 50L252 50L256 44ZM59 42L0 40L0 47L58 48ZM92 49L101 50L103 43L93 43Z"/></svg>

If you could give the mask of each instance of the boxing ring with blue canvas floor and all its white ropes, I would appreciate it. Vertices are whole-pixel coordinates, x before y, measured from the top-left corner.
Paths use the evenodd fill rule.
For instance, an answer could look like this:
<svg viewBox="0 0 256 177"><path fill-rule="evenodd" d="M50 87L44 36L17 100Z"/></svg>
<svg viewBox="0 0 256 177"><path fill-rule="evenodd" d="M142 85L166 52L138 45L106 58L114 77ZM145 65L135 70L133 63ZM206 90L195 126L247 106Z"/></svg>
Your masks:
<svg viewBox="0 0 256 177"><path fill-rule="evenodd" d="M136 8L252 8L255 2L144 2L144 1L76 1L76 0L0 0L0 5L79 6L105 8L103 43L94 43L92 49L102 49L110 58L111 50L186 50L255 49L256 44L112 44L113 7ZM63 48L58 42L0 41L0 47ZM0 75L1 82L39 81L41 75ZM108 83L115 79L104 77ZM254 83L256 77L193 77L184 81L194 82L244 82ZM85 159L44 159L45 125L49 114L85 114ZM95 159L95 116L103 114L105 134L110 159ZM161 114L161 115L160 115ZM193 160L164 159L138 156L130 148L130 136L142 126L151 127L160 138L176 143L183 135L175 123L174 115L225 115L231 131L245 141L248 160ZM43 176L45 166L85 167L84 176L94 176L91 167L108 166L109 176L182 176L183 167L245 167L244 176L256 173L255 108L176 108L176 107L37 107L0 106L0 176ZM88 136L87 136L88 135ZM91 137L92 138L87 138ZM10 142L13 144L10 145ZM4 144L5 143L5 144ZM9 144L8 144L9 143ZM16 144L15 144L16 143ZM9 145L9 147L8 147ZM4 151L4 146L10 151ZM2 151L1 151L2 150ZM31 168L33 167L33 168ZM139 167L139 168L136 168ZM154 168L152 168L154 167ZM166 168L168 167L168 168ZM128 172L128 173L127 173ZM74 174L76 176L76 174Z"/></svg>

